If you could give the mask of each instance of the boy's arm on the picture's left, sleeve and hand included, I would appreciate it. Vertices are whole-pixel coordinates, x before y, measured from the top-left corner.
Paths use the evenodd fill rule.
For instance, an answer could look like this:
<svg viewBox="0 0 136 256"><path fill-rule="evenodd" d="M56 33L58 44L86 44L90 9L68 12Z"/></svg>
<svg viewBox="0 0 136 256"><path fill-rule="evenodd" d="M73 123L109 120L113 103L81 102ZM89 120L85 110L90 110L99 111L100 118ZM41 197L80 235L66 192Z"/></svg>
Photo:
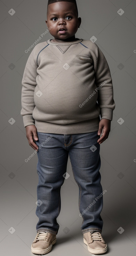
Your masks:
<svg viewBox="0 0 136 256"><path fill-rule="evenodd" d="M32 113L35 107L34 104L34 90L36 83L36 77L38 65L34 61L34 49L29 55L26 62L23 79L22 79L22 95L21 95L21 115L23 116L24 127L26 128L26 137L29 145L33 149L38 149L38 146L34 143L33 138L38 140L37 129L35 127L35 120Z"/></svg>

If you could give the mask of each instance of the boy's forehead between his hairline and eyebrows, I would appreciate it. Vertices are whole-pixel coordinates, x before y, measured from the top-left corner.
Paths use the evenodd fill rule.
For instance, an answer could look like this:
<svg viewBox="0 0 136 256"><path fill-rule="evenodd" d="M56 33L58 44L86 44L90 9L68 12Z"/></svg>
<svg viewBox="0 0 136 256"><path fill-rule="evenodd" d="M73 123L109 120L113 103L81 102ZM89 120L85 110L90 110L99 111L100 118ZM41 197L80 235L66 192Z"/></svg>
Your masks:
<svg viewBox="0 0 136 256"><path fill-rule="evenodd" d="M75 14L75 4L72 2L65 2L65 1L60 1L60 2L56 2L56 3L51 3L50 5L48 5L48 10L47 10L47 14L51 15L51 14L62 14L63 13L71 13L71 14Z"/></svg>

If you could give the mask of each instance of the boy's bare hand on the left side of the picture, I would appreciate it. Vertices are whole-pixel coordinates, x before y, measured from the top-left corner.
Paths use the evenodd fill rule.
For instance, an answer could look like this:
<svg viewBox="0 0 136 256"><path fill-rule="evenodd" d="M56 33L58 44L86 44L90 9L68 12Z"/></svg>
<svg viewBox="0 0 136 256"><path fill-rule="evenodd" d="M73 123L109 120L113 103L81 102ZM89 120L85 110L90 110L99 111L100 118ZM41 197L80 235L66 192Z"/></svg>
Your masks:
<svg viewBox="0 0 136 256"><path fill-rule="evenodd" d="M35 125L28 125L25 127L25 129L26 129L26 137L29 142L29 145L34 150L37 151L38 146L37 146L37 144L34 143L34 140L38 141L37 128L35 127ZM34 140L33 140L33 138L34 138Z"/></svg>

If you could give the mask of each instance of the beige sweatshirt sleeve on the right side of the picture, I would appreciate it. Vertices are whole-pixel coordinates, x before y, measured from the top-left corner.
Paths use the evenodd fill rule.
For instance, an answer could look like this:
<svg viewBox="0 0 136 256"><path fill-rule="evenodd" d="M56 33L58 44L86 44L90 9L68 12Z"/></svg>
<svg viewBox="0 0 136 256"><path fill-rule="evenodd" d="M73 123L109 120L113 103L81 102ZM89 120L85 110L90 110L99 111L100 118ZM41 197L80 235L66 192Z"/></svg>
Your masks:
<svg viewBox="0 0 136 256"><path fill-rule="evenodd" d="M109 119L112 121L115 103L113 99L113 85L110 69L104 54L97 45L95 48L95 55L95 84L98 88L97 101L101 109L101 118Z"/></svg>

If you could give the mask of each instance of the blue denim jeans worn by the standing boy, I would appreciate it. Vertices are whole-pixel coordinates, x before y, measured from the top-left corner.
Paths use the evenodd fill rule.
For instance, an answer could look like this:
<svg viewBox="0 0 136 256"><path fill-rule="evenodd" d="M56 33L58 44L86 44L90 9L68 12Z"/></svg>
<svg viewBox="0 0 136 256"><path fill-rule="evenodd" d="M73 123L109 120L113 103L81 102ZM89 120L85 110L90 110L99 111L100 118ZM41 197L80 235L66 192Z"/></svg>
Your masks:
<svg viewBox="0 0 136 256"><path fill-rule="evenodd" d="M101 159L97 131L82 134L49 134L38 132L37 152L37 232L58 233L56 218L61 210L60 190L70 157L74 179L79 187L79 216L82 233L102 232L103 191L99 169ZM68 213L69 214L69 213Z"/></svg>

